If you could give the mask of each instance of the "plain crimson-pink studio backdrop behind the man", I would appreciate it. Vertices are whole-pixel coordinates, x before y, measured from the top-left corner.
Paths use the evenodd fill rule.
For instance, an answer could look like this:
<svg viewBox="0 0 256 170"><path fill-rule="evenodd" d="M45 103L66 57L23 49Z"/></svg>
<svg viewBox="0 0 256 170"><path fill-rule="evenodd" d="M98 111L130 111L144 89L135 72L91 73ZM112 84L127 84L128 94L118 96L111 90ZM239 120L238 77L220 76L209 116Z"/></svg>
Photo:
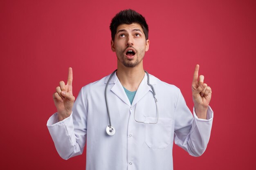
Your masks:
<svg viewBox="0 0 256 170"><path fill-rule="evenodd" d="M0 169L85 169L85 152L67 161L56 152L46 127L52 94L69 66L75 96L115 70L109 24L128 8L149 25L149 73L178 86L191 110L195 64L213 90L208 148L191 157L174 146L174 169L256 168L256 1L1 0Z"/></svg>

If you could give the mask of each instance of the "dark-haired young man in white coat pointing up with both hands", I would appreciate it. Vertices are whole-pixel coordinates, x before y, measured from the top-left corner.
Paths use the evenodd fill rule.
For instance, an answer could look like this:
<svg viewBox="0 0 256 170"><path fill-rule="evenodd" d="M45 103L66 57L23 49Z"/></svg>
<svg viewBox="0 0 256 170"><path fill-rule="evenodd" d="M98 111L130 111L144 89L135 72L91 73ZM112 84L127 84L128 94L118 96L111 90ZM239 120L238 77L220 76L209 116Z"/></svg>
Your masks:
<svg viewBox="0 0 256 170"><path fill-rule="evenodd" d="M87 142L87 170L172 170L173 140L190 155L202 155L213 111L211 88L203 76L198 80L199 65L192 83L193 117L179 88L143 69L149 48L145 18L121 11L110 30L117 71L84 86L74 103L69 68L67 84L61 81L53 95L57 113L47 126L59 155L80 155Z"/></svg>

